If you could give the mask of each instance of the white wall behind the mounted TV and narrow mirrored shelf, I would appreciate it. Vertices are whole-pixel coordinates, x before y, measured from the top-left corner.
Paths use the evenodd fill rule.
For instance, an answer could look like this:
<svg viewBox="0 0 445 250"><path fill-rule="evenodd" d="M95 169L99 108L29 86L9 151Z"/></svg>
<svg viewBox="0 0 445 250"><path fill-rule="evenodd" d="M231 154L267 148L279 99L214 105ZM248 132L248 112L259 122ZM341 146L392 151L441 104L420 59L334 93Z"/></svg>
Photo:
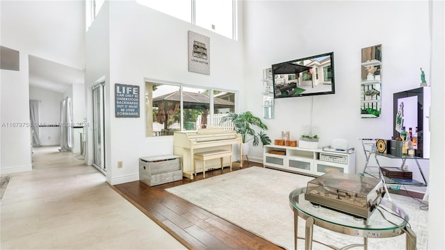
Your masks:
<svg viewBox="0 0 445 250"><path fill-rule="evenodd" d="M393 93L419 88L419 68L425 72L430 70L428 1L323 1L323 4L321 1L244 1L244 4L244 82L245 88L257 87L252 101L244 103L245 109L262 115L261 88L258 88L262 85L262 69L333 51L336 93L276 99L275 119L266 120L270 128L268 134L274 139L280 138L280 131L290 131L291 138L298 140L304 133L302 126L310 124L312 119L318 127L316 133L321 137L321 145L344 138L350 147L357 149L357 172L362 171L365 159L358 139L391 138ZM366 13L371 11L369 6L375 9L372 15ZM266 16L273 18L264 18ZM286 38L280 37L283 33ZM362 119L359 114L361 49L377 44L382 44L382 115L378 119ZM428 74L426 81L429 81ZM261 160L261 157L261 149L252 151L252 159ZM407 164L415 167L414 162ZM428 161L422 165L426 165L424 171L428 176Z"/></svg>

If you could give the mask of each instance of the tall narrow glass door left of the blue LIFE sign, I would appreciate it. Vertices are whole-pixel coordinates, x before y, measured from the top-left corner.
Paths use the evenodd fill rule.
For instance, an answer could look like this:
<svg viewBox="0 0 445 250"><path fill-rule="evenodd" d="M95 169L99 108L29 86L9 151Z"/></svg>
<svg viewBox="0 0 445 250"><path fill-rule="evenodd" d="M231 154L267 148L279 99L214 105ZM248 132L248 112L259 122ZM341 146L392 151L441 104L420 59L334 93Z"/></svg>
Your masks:
<svg viewBox="0 0 445 250"><path fill-rule="evenodd" d="M92 165L103 174L106 173L105 165L105 82L92 88Z"/></svg>

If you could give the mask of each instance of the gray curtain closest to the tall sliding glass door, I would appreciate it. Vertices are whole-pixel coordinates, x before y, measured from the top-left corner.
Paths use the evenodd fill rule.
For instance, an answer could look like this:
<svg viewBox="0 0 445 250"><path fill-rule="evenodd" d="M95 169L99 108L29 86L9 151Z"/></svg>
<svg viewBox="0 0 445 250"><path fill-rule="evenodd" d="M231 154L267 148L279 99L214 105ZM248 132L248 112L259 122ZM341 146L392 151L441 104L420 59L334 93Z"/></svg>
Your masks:
<svg viewBox="0 0 445 250"><path fill-rule="evenodd" d="M71 98L66 97L60 101L60 149L59 151L72 151L72 122Z"/></svg>

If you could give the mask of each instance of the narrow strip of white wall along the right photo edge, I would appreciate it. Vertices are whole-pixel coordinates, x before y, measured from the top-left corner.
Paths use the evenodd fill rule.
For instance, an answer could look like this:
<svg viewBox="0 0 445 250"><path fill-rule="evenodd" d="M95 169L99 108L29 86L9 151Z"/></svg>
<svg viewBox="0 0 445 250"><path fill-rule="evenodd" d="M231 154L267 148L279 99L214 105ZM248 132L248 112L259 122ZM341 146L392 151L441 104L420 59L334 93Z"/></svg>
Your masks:
<svg viewBox="0 0 445 250"><path fill-rule="evenodd" d="M428 249L445 249L445 2L430 1L431 51L431 172L429 188Z"/></svg>

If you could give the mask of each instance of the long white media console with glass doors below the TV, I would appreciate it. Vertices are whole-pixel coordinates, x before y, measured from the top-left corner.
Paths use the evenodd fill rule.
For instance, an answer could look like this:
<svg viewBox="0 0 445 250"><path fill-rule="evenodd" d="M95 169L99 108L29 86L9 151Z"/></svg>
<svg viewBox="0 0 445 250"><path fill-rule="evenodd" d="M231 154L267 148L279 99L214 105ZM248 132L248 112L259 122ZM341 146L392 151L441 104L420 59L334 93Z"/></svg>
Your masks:
<svg viewBox="0 0 445 250"><path fill-rule="evenodd" d="M275 151L275 153L272 153ZM302 149L277 145L264 146L264 167L282 169L309 176L321 176L337 171L355 174L355 151L331 151L323 149Z"/></svg>

